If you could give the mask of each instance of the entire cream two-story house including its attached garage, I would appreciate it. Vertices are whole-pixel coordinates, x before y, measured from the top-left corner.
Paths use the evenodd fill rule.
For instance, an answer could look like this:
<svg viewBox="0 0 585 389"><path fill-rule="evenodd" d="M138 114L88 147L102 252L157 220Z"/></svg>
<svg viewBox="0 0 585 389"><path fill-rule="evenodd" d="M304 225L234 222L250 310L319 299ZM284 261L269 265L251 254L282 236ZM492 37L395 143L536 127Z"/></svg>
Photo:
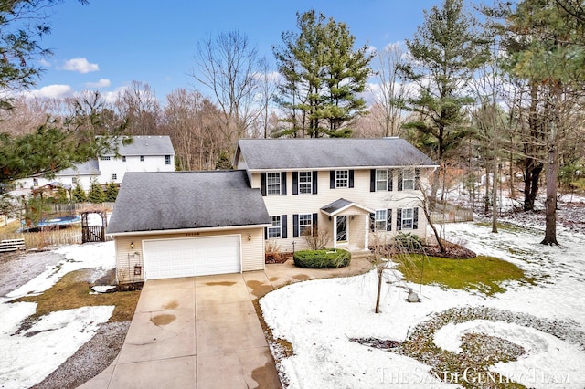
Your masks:
<svg viewBox="0 0 585 389"><path fill-rule="evenodd" d="M119 281L263 269L268 240L291 252L306 234L353 252L426 237L419 186L436 164L402 139L246 139L234 167L126 174L108 226Z"/></svg>

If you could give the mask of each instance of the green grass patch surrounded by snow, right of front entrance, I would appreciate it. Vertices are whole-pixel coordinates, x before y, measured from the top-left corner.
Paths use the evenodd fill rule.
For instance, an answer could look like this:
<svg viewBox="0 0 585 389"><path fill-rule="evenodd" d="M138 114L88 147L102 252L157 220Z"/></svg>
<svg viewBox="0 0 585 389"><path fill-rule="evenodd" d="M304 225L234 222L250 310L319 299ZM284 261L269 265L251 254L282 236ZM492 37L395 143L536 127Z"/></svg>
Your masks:
<svg viewBox="0 0 585 389"><path fill-rule="evenodd" d="M505 260L478 256L453 259L412 255L399 270L405 279L424 285L437 284L452 289L475 289L487 296L504 292L503 281L523 280L524 271Z"/></svg>

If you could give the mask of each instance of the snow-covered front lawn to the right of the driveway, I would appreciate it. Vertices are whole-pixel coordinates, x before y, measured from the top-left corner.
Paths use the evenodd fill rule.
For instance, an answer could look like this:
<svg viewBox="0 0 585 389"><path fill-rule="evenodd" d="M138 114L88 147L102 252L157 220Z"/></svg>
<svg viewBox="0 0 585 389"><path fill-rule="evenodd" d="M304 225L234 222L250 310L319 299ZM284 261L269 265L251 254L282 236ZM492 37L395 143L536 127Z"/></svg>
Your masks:
<svg viewBox="0 0 585 389"><path fill-rule="evenodd" d="M261 309L273 337L293 346L293 356L282 357L279 364L285 385L484 387L490 380L510 379L536 388L585 387L585 236L559 227L562 247L544 247L539 244L543 232L536 228L501 229L499 234L475 224L447 225L446 229L452 241L466 243L478 254L513 262L536 282L507 282L504 293L486 297L474 291L407 284L391 273L379 314L374 313L373 272L274 290L261 299ZM408 288L420 292L420 303L406 301ZM456 315L468 315L469 320ZM494 339L498 345L510 344L510 349L515 346L524 353L466 376L464 370L459 375L431 372L437 368L434 363L352 341L401 342L433 325L439 328L431 329L432 342L441 353L461 354L463 340L473 333L481 334L485 342L475 357L487 354ZM279 346L271 344L271 348L278 358ZM473 383L477 379L487 384Z"/></svg>

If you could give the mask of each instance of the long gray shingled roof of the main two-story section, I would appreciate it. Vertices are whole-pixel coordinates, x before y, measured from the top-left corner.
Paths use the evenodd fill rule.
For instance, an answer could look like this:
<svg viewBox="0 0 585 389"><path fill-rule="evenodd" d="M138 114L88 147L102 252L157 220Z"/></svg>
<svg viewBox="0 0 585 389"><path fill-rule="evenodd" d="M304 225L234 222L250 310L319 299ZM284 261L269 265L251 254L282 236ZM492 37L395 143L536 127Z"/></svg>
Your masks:
<svg viewBox="0 0 585 389"><path fill-rule="evenodd" d="M250 170L437 165L400 138L241 139L238 148Z"/></svg>

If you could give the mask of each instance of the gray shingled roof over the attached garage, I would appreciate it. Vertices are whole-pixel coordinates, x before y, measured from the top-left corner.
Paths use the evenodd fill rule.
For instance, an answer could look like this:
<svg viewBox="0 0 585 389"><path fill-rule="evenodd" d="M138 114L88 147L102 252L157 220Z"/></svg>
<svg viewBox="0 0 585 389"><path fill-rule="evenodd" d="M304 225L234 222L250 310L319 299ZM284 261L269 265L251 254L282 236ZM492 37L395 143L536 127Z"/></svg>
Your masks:
<svg viewBox="0 0 585 389"><path fill-rule="evenodd" d="M108 234L271 224L244 171L126 173Z"/></svg>

